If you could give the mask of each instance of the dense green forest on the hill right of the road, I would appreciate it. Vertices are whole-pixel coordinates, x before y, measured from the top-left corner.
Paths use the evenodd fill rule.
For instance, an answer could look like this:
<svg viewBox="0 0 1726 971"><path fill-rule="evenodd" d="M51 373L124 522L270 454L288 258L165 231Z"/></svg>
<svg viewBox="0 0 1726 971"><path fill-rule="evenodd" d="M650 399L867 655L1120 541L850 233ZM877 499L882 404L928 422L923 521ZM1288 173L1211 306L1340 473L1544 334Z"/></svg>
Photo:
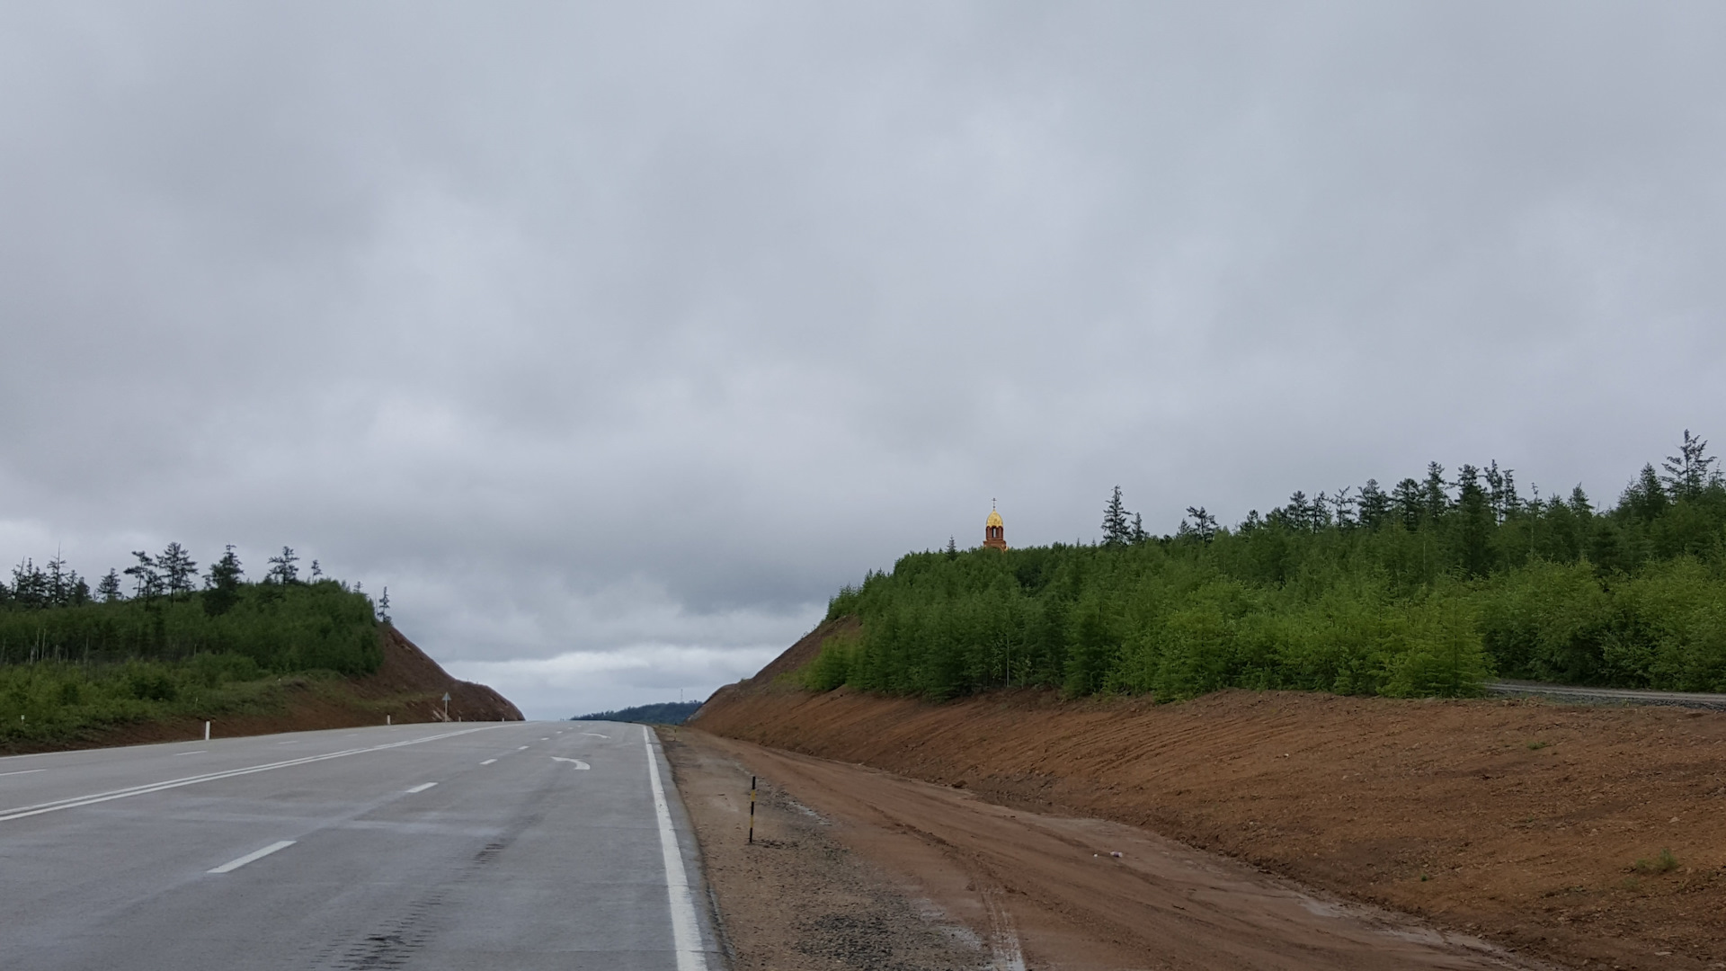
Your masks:
<svg viewBox="0 0 1726 971"><path fill-rule="evenodd" d="M828 603L854 615L799 679L951 698L1001 686L1191 698L1220 688L1477 695L1486 679L1726 689L1726 482L1685 432L1617 503L1522 496L1509 470L1308 498L1150 536L1117 487L1103 539L913 553Z"/></svg>

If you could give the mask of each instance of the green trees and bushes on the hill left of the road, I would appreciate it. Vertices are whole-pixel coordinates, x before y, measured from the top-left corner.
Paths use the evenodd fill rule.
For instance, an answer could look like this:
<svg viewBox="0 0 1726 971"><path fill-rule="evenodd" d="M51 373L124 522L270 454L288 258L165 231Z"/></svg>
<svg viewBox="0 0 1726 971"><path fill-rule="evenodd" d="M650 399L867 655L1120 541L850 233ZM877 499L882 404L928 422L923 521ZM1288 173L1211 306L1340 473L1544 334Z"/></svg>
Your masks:
<svg viewBox="0 0 1726 971"><path fill-rule="evenodd" d="M271 712L287 688L371 674L383 660L388 591L373 605L316 563L302 579L290 548L259 582L231 546L204 574L178 543L133 558L95 591L59 556L26 560L0 582L0 743Z"/></svg>

